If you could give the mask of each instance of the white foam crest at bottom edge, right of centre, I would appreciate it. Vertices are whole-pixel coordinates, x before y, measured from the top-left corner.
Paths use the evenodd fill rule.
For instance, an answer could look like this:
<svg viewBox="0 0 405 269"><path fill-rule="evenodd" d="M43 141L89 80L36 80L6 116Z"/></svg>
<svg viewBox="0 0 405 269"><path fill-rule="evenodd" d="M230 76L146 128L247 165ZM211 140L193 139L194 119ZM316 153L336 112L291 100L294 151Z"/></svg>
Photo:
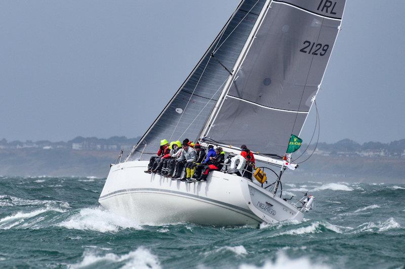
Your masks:
<svg viewBox="0 0 405 269"><path fill-rule="evenodd" d="M289 258L283 252L277 253L277 258L274 261L266 261L263 266L255 266L242 264L239 269L327 269L331 268L325 264L314 263L307 257L296 259Z"/></svg>

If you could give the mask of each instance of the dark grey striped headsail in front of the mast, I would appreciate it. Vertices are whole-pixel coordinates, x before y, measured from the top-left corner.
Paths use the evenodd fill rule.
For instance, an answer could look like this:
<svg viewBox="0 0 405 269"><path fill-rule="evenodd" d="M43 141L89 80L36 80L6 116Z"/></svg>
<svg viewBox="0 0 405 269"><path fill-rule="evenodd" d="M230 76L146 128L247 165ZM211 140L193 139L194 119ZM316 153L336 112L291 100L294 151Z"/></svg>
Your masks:
<svg viewBox="0 0 405 269"><path fill-rule="evenodd" d="M193 140L198 137L229 78L229 72L224 67L232 72L265 2L245 0L239 4L203 58L127 160L138 159L141 152L141 159L148 159L151 154L156 153L162 139ZM213 52L214 58L211 56Z"/></svg>

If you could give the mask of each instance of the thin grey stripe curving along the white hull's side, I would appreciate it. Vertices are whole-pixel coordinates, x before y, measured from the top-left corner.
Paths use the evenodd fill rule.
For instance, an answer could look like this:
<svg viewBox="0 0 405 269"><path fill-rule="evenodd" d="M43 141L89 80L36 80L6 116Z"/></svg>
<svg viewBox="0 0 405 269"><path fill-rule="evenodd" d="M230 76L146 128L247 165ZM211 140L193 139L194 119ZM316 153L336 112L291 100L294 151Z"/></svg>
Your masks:
<svg viewBox="0 0 405 269"><path fill-rule="evenodd" d="M185 192L181 192L181 191L165 190L165 189L133 188L133 189L118 190L118 191L113 191L113 192L110 192L110 193L108 193L108 194L106 194L106 195L100 196L99 200L104 200L104 199L108 198L109 196L115 196L115 195L119 195L119 194L126 194L126 193L129 193L129 192L132 192L132 191L137 191L137 192L139 192L139 191L157 191L157 192L166 192L166 193L171 193L171 194L179 194L179 195L183 195L183 196L190 196L190 197L193 197L193 198L197 198L197 199L201 199L201 200L206 200L206 201L209 201L209 202L212 202L212 203L217 203L217 204L225 205L225 206L228 206L228 207L237 209L237 210L239 210L239 211L244 211L244 212L246 212L246 213L248 213L248 214L250 214L250 215L255 216L255 220L256 220L256 221L257 221L257 220L260 220L260 218L258 218L255 214L252 214L252 211L251 211L251 210L246 209L246 208L243 208L243 207L240 207L240 206L236 206L236 205L233 205L233 204L221 202L221 201L214 200L214 199L207 198L207 197L203 197L203 196L198 196L198 195L191 194L191 193L185 193ZM249 217L249 216L248 216L248 217ZM252 217L250 217L250 218L252 218ZM260 221L261 221L261 220L260 220Z"/></svg>

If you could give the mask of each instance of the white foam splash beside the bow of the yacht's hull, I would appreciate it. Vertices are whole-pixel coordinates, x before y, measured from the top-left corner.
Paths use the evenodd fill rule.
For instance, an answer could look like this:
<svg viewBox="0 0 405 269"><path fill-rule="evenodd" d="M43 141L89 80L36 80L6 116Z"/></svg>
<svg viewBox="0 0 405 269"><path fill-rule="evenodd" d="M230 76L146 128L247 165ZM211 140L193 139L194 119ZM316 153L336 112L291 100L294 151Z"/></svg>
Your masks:
<svg viewBox="0 0 405 269"><path fill-rule="evenodd" d="M101 207L83 208L74 214L69 220L59 223L57 226L75 230L92 230L98 232L117 232L119 229L134 228L141 230L142 227L133 221L118 216Z"/></svg>

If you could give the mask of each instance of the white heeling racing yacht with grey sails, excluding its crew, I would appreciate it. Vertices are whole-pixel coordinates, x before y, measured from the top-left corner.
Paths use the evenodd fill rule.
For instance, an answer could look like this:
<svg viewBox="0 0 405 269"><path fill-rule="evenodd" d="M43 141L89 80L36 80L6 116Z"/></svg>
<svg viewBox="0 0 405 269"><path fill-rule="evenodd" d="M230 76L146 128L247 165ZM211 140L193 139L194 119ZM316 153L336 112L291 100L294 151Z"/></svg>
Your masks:
<svg viewBox="0 0 405 269"><path fill-rule="evenodd" d="M314 197L282 198L281 178L297 167L287 148L314 103L344 7L345 0L241 1L140 141L111 165L100 204L154 225L302 220ZM185 138L235 155L248 145L267 181L213 171L207 182L187 184L144 173L160 140Z"/></svg>

